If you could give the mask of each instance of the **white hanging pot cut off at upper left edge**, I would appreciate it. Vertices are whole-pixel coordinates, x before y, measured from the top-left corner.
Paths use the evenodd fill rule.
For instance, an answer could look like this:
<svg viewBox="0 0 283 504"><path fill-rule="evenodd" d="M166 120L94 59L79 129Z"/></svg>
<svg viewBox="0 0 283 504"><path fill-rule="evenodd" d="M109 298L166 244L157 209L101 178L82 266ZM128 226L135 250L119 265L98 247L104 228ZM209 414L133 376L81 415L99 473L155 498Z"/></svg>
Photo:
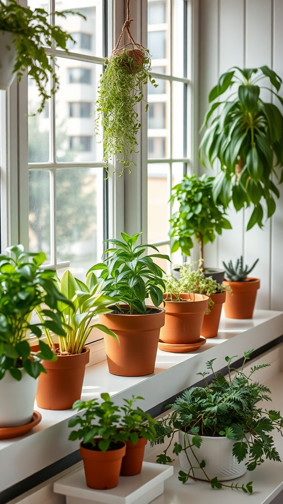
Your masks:
<svg viewBox="0 0 283 504"><path fill-rule="evenodd" d="M16 62L15 37L15 33L0 30L0 89L9 89L16 77L13 74Z"/></svg>

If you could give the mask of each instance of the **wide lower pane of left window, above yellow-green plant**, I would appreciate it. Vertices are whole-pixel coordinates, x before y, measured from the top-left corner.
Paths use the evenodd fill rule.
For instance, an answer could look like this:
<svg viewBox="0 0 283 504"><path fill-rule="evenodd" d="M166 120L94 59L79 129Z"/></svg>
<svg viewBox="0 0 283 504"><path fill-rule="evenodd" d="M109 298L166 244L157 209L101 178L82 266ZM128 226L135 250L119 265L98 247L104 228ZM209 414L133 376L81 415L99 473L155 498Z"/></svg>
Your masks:
<svg viewBox="0 0 283 504"><path fill-rule="evenodd" d="M70 271L82 280L97 262L103 240L102 194L101 169L56 170L57 263L69 262Z"/></svg>

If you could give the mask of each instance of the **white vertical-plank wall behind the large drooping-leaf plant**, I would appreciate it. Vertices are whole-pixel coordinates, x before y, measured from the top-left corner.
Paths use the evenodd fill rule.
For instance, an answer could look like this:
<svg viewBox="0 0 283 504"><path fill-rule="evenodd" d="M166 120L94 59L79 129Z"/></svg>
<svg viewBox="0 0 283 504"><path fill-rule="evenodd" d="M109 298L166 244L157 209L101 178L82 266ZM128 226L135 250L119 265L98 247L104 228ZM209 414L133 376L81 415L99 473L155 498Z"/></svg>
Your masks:
<svg viewBox="0 0 283 504"><path fill-rule="evenodd" d="M198 127L208 107L209 90L230 67L268 65L283 78L282 26L283 0L199 0ZM271 100L271 93L266 93L264 99ZM256 226L246 232L250 210L231 210L233 230L205 246L204 254L207 266L218 267L241 254L248 265L259 258L252 273L261 279L256 306L283 310L283 187L278 188L281 199L263 230Z"/></svg>

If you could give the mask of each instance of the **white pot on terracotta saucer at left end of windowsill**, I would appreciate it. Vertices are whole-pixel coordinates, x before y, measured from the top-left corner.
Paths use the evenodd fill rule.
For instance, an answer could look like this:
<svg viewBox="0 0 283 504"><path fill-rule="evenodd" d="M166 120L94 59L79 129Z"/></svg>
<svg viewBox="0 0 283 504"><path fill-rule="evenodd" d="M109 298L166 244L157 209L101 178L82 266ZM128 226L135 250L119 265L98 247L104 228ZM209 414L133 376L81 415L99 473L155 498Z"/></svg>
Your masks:
<svg viewBox="0 0 283 504"><path fill-rule="evenodd" d="M9 371L0 380L0 427L17 427L32 419L38 379L21 371L20 382Z"/></svg>

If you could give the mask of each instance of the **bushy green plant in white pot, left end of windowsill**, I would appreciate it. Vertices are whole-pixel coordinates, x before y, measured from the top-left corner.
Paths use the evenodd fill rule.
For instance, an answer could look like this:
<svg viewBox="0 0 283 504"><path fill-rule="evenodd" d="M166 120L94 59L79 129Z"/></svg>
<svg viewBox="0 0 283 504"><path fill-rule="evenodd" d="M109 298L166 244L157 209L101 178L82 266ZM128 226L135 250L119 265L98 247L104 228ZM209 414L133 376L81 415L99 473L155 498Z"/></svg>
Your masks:
<svg viewBox="0 0 283 504"><path fill-rule="evenodd" d="M29 333L40 338L42 329L50 329L63 337L60 303L72 302L57 289L55 271L41 267L43 252L30 254L23 245L6 252L0 255L0 427L16 427L32 419L38 377L46 373L40 360L56 360L43 341L33 352ZM31 322L41 304L49 320Z"/></svg>

